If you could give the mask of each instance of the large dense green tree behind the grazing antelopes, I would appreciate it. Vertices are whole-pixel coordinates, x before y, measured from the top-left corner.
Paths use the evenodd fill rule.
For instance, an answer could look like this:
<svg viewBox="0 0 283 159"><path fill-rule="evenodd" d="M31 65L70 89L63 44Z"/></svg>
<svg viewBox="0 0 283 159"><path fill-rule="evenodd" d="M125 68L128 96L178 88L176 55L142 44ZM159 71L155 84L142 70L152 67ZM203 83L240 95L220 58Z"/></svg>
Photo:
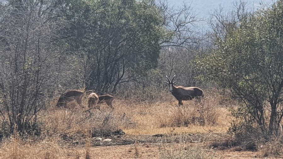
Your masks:
<svg viewBox="0 0 283 159"><path fill-rule="evenodd" d="M173 36L151 0L71 0L65 9L65 46L79 55L83 52L87 89L98 92L155 68L160 41Z"/></svg>

